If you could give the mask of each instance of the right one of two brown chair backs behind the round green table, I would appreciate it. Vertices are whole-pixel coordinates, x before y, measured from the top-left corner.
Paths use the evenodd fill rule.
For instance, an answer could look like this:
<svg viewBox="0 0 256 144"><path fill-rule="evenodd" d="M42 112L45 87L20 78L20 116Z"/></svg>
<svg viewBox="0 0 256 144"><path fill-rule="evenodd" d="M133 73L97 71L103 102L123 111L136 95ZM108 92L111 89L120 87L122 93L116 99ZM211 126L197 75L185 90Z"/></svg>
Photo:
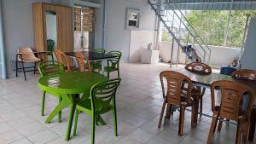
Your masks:
<svg viewBox="0 0 256 144"><path fill-rule="evenodd" d="M81 52L76 52L75 56L76 60L78 61L79 72L91 72L90 60L88 59L88 57L83 55Z"/></svg>

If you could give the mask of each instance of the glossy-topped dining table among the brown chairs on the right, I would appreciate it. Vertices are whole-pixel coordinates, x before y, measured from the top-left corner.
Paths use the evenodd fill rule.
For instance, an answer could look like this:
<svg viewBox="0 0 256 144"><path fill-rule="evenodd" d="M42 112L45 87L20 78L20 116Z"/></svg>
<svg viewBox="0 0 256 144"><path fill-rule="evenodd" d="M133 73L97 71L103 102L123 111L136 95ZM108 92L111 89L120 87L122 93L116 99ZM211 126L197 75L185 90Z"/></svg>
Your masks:
<svg viewBox="0 0 256 144"><path fill-rule="evenodd" d="M186 69L179 69L177 72L183 73L185 76L189 77L193 84L205 88L210 88L211 84L213 82L219 81L219 80L228 80L228 81L233 81L233 82L238 82L241 84L245 84L252 88L254 92L256 92L256 83L252 80L247 80L247 79L237 79L237 78L232 78L231 76L224 75L224 74L218 74L218 73L211 73L208 75L201 75L197 74L195 72L190 72L189 70ZM248 134L248 141L253 141L254 133L255 133L255 124L256 124L256 100L253 103L253 110L251 113L251 122L250 122L250 128L249 128L249 134Z"/></svg>

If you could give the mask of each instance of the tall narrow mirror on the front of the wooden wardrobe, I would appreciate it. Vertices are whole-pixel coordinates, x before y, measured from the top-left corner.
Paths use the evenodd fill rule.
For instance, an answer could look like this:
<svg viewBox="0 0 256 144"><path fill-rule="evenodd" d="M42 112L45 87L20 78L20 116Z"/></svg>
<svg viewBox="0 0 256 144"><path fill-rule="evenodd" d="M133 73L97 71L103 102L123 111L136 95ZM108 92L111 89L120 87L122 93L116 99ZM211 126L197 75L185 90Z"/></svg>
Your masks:
<svg viewBox="0 0 256 144"><path fill-rule="evenodd" d="M46 14L46 34L47 39L55 41L57 46L57 16L55 14Z"/></svg>

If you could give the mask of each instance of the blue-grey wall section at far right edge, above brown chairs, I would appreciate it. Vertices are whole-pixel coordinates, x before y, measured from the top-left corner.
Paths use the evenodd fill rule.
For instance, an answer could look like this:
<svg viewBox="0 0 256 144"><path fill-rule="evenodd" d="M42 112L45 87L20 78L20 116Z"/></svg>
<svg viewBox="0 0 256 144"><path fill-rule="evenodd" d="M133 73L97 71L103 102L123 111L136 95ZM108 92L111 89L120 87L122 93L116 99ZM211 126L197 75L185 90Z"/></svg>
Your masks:
<svg viewBox="0 0 256 144"><path fill-rule="evenodd" d="M242 55L241 68L256 70L256 18L250 21L247 42L245 44L244 53Z"/></svg>

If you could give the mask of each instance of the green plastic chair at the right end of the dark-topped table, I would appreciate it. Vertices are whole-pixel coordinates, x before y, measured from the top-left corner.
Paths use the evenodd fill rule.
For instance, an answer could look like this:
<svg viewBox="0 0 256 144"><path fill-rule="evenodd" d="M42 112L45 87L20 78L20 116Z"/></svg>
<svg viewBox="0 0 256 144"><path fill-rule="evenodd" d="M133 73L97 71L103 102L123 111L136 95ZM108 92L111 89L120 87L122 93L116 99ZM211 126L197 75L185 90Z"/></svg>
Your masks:
<svg viewBox="0 0 256 144"><path fill-rule="evenodd" d="M108 55L115 55L115 58L112 58L108 60L108 66L105 66L106 72L108 72L108 78L109 78L109 73L110 72L118 72L118 78L120 78L120 73L119 73L119 60L121 59L122 53L119 51L110 51Z"/></svg>

